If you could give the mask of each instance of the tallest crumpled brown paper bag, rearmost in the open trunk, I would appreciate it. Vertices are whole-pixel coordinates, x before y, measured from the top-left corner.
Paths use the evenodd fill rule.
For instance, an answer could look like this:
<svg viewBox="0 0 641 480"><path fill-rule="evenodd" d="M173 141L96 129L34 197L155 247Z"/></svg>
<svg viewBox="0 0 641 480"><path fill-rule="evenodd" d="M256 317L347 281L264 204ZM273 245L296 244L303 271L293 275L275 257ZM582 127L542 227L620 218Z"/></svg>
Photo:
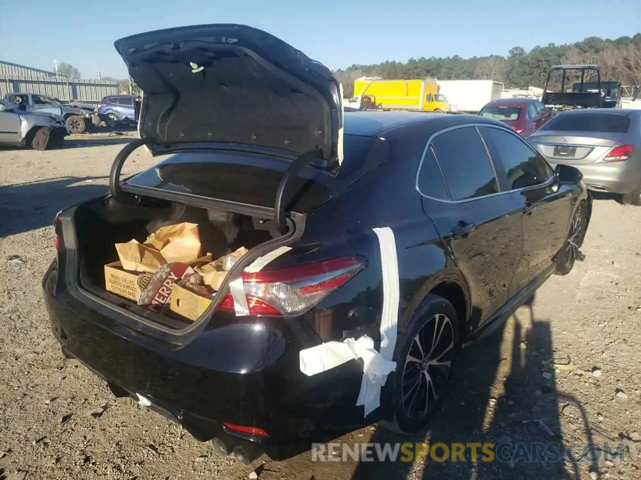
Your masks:
<svg viewBox="0 0 641 480"><path fill-rule="evenodd" d="M167 262L190 263L201 255L196 223L183 222L158 228L147 237L145 244L160 250Z"/></svg>

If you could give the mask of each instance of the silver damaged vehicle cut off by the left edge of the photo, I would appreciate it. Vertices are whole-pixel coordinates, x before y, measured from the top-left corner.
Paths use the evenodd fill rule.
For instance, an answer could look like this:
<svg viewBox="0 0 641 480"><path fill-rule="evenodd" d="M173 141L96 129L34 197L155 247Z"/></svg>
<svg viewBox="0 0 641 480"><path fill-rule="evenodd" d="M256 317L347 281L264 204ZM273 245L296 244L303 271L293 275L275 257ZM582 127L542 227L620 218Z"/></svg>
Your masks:
<svg viewBox="0 0 641 480"><path fill-rule="evenodd" d="M67 125L56 121L53 115L23 111L16 104L0 100L0 145L36 150L61 148L67 135Z"/></svg>

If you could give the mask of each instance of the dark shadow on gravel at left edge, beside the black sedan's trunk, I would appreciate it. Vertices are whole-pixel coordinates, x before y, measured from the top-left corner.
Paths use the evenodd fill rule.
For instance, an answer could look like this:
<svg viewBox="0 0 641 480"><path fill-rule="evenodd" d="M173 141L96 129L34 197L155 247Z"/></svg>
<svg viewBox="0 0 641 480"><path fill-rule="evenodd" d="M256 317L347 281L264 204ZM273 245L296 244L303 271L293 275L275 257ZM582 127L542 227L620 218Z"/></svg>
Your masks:
<svg viewBox="0 0 641 480"><path fill-rule="evenodd" d="M0 237L51 225L65 207L106 193L108 187L96 183L105 178L60 177L0 186Z"/></svg>

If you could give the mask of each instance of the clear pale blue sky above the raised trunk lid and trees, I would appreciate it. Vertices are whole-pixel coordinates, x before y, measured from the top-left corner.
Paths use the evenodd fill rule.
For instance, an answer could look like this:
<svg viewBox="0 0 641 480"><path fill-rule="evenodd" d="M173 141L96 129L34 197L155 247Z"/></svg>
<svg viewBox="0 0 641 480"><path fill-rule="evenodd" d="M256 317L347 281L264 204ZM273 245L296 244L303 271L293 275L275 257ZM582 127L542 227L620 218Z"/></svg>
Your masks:
<svg viewBox="0 0 641 480"><path fill-rule="evenodd" d="M0 0L0 4L3 2ZM0 60L85 78L125 77L122 36L206 23L240 23L279 36L329 68L421 56L506 55L587 36L641 31L640 0L30 0L3 4ZM139 12L139 13L134 13Z"/></svg>

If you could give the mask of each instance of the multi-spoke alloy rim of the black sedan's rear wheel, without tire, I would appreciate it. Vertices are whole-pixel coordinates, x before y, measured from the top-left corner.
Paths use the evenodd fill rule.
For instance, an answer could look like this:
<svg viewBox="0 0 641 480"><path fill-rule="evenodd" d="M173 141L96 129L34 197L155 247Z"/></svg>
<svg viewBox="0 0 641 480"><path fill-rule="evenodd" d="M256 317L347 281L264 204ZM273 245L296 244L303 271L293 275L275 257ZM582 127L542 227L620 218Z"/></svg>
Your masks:
<svg viewBox="0 0 641 480"><path fill-rule="evenodd" d="M442 395L454 358L449 317L435 314L420 328L405 359L401 405L410 419L426 417Z"/></svg>

